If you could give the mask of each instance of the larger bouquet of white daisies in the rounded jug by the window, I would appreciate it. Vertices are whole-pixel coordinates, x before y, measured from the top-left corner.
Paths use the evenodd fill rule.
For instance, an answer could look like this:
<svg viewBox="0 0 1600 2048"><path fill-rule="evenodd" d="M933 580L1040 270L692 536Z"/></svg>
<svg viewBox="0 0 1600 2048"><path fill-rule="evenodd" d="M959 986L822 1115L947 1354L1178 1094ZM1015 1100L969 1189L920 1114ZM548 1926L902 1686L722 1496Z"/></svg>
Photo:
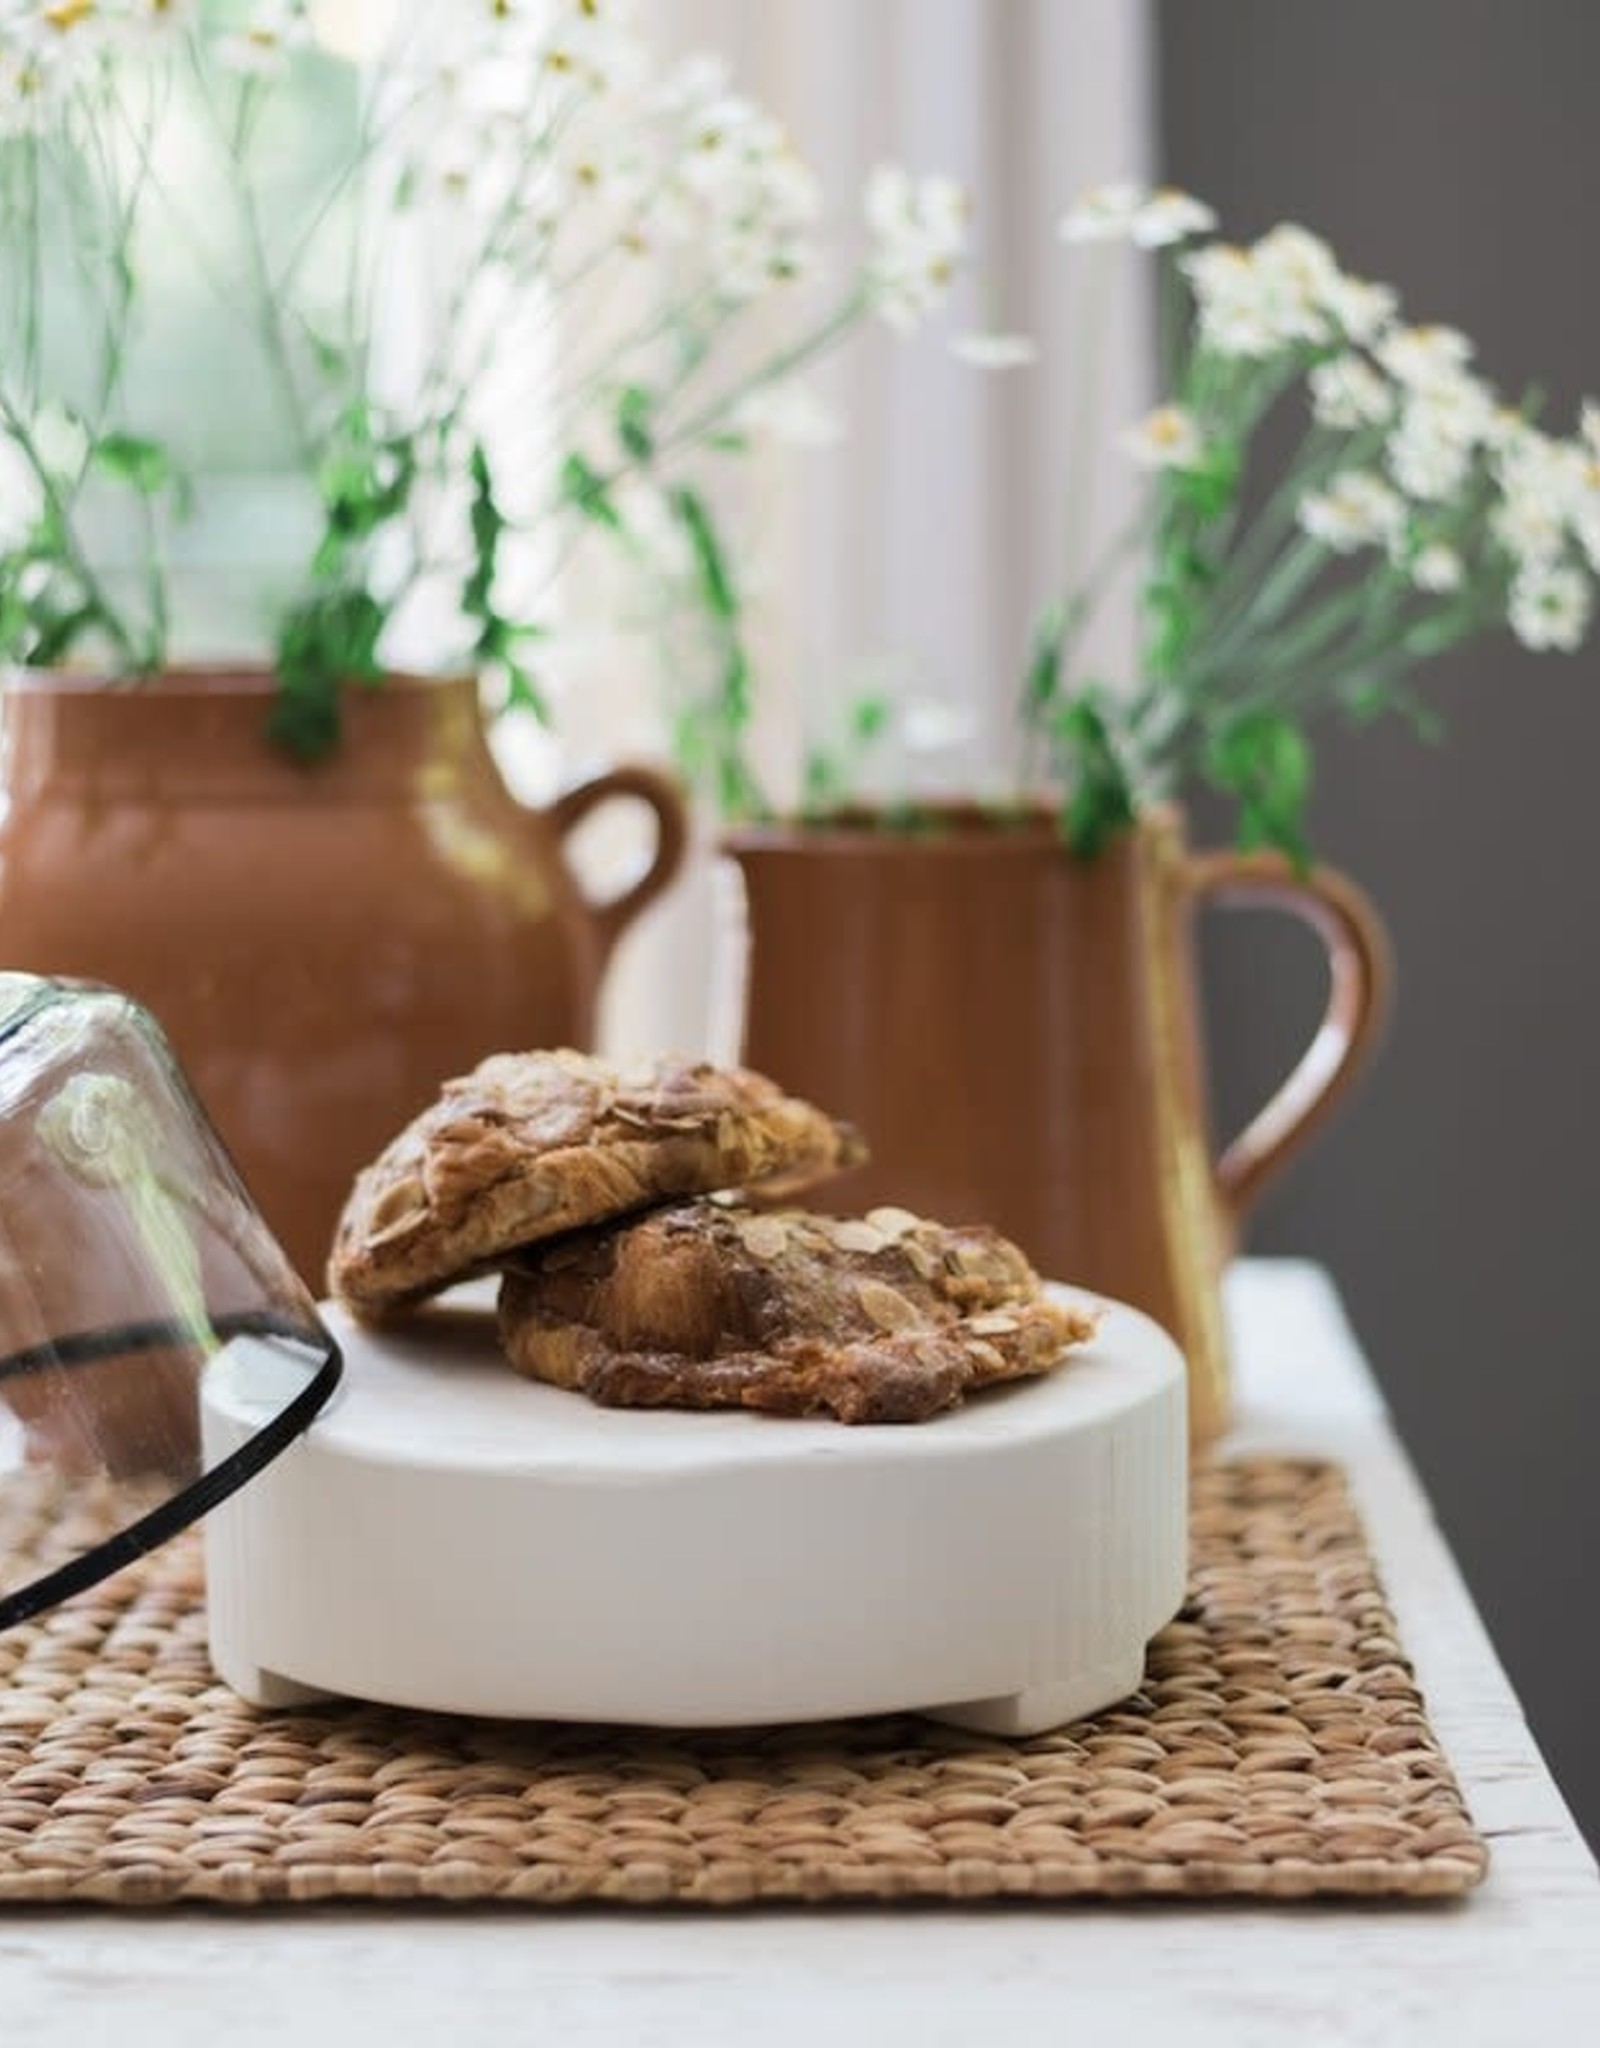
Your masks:
<svg viewBox="0 0 1600 2048"><path fill-rule="evenodd" d="M670 532L735 803L748 664L703 471L860 319L938 301L965 201L877 172L867 248L817 297L819 225L778 123L715 61L658 66L617 0L0 0L0 659L168 659L207 436L182 403L143 418L135 365L180 293L303 502L260 621L283 743L332 745L342 684L418 610L449 618L443 659L541 709L574 530L641 578ZM426 301L399 365L395 293Z"/></svg>

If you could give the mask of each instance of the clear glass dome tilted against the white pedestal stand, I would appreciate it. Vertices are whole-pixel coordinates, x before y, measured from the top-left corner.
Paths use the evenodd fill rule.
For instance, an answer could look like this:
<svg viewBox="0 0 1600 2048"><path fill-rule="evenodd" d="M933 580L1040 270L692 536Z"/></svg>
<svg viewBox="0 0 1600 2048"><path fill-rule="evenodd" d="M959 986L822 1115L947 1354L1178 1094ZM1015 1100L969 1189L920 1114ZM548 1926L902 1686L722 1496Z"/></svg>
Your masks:
<svg viewBox="0 0 1600 2048"><path fill-rule="evenodd" d="M223 1372L258 1423L227 1448L201 1409ZM195 1522L338 1376L150 1014L0 973L0 1628Z"/></svg>

